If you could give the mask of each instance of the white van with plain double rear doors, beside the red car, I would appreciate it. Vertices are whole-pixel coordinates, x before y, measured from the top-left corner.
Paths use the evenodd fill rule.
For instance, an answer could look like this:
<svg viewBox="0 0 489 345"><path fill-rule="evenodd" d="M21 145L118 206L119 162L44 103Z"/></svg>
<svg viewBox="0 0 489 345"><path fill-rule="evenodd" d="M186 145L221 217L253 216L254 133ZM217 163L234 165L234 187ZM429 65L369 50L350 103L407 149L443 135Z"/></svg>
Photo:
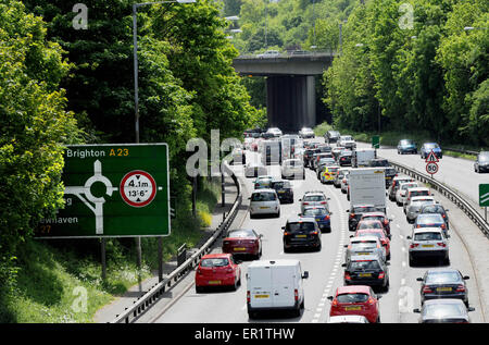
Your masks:
<svg viewBox="0 0 489 345"><path fill-rule="evenodd" d="M266 310L290 310L300 316L304 308L303 280L299 260L260 260L248 267L247 307L250 319Z"/></svg>

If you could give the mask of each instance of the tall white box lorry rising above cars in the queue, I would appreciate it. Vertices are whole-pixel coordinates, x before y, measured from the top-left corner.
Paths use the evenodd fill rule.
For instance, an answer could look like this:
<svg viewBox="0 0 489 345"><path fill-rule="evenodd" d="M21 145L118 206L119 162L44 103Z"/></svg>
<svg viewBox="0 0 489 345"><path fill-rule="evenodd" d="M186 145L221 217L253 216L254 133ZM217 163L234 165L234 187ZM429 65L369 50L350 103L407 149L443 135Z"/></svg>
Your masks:
<svg viewBox="0 0 489 345"><path fill-rule="evenodd" d="M386 212L386 176L381 168L351 169L349 174L350 209L374 205Z"/></svg>

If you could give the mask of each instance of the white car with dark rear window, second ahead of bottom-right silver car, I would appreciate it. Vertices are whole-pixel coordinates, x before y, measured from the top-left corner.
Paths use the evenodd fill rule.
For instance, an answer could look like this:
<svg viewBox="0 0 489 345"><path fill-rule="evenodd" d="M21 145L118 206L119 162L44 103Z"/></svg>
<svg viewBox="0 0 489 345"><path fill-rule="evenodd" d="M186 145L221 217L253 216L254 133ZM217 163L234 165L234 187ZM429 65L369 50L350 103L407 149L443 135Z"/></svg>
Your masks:
<svg viewBox="0 0 489 345"><path fill-rule="evenodd" d="M437 258L444 264L450 264L449 242L440 227L413 229L410 239L410 266L419 259Z"/></svg>

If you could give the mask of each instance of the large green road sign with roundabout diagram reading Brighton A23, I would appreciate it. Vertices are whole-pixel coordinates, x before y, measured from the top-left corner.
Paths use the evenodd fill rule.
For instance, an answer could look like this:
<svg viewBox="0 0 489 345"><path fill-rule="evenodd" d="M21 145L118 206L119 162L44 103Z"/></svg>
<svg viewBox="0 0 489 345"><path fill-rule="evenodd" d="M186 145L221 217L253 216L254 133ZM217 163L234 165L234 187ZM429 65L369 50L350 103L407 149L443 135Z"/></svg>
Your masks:
<svg viewBox="0 0 489 345"><path fill-rule="evenodd" d="M166 144L72 145L64 162L65 207L37 237L170 235Z"/></svg>

